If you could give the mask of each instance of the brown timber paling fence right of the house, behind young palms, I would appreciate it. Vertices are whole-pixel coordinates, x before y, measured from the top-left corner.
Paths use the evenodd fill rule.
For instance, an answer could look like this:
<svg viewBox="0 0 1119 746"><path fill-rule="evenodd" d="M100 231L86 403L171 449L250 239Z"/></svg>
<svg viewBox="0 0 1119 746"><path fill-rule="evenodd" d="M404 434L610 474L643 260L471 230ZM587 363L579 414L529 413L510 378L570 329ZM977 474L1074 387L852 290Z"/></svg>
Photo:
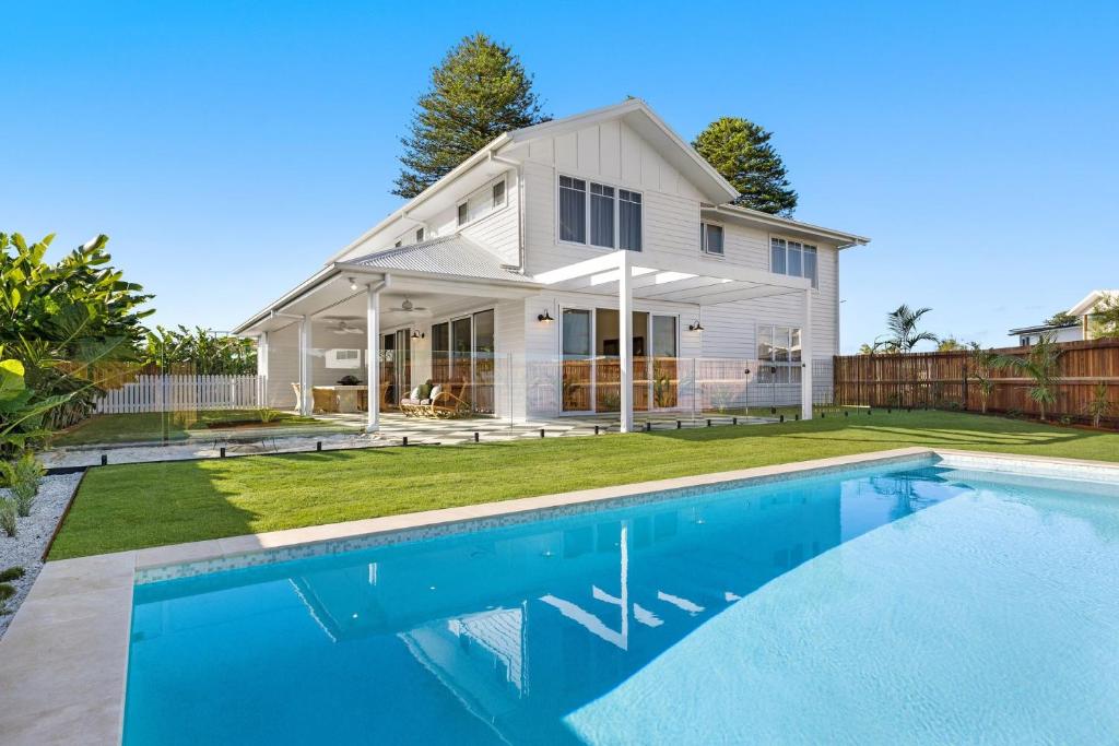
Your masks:
<svg viewBox="0 0 1119 746"><path fill-rule="evenodd" d="M1112 405L1109 419L1119 421L1119 339L1065 342L1060 347L1056 403L1046 406L1046 415L1087 418L1088 405L1102 383ZM1029 348L995 351L1025 357ZM966 351L837 356L833 368L835 403L979 412L984 400L972 368ZM1040 414L1037 403L1028 396L1028 378L1013 368L996 369L991 378L995 388L987 397L988 412Z"/></svg>

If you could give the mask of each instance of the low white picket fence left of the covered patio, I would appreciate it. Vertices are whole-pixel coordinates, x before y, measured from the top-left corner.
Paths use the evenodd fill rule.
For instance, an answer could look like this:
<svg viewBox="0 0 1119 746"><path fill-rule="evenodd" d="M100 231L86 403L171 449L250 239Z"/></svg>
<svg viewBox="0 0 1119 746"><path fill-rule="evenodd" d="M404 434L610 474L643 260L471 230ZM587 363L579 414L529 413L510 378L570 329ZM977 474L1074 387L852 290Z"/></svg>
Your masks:
<svg viewBox="0 0 1119 746"><path fill-rule="evenodd" d="M137 376L100 397L97 414L251 409L264 390L264 376Z"/></svg>

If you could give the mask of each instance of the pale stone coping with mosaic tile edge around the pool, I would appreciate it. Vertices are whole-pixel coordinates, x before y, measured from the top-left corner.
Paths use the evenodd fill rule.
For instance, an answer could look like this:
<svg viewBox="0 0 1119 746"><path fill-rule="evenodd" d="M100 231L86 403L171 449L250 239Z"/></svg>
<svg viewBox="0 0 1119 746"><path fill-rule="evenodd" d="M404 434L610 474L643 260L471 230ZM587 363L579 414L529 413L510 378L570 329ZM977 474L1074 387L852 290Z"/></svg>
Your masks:
<svg viewBox="0 0 1119 746"><path fill-rule="evenodd" d="M121 742L132 594L138 582L161 579L160 568L181 573L197 566L199 572L218 572L262 564L254 561L262 556L284 561L377 546L394 537L415 540L485 529L510 519L535 520L549 511L593 510L603 501L623 504L627 498L656 499L652 495L658 494L666 499L692 488L765 483L922 457L965 468L1025 468L1052 476L1075 473L1083 478L1087 470L1093 479L1119 483L1119 464L1107 462L906 447L49 561L0 640L0 691L6 692L0 742ZM435 532L424 533L429 530ZM331 546L338 542L342 544ZM285 549L303 554L266 557Z"/></svg>

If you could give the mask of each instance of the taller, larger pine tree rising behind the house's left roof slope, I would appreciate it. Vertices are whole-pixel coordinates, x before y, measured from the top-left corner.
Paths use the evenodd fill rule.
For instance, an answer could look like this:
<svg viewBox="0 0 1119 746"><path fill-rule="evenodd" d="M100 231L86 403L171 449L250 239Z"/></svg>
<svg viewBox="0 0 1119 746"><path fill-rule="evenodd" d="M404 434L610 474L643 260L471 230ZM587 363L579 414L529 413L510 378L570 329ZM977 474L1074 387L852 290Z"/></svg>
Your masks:
<svg viewBox="0 0 1119 746"><path fill-rule="evenodd" d="M432 69L431 88L416 102L393 193L415 197L499 134L547 119L511 49L485 34L466 37Z"/></svg>

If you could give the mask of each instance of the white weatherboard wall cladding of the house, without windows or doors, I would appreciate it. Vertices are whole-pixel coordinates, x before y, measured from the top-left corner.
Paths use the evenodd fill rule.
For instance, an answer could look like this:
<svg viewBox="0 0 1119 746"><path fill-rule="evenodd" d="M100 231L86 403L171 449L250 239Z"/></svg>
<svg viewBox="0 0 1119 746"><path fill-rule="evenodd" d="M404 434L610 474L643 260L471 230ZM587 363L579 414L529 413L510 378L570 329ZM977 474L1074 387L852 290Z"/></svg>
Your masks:
<svg viewBox="0 0 1119 746"><path fill-rule="evenodd" d="M404 295L412 295L416 305L432 309L430 313L412 319L386 312L383 321L383 333L398 328L393 324L411 322L425 334L423 340L413 341L413 383L431 376L432 323L493 309L497 352L493 405L497 414L511 418L555 415L560 413L563 309L617 310L619 306L613 282L594 284L602 280L601 276L592 278L586 285L567 283L564 285L566 290L562 291L560 285L547 285L540 290L540 283L546 280L540 276L544 273L571 267L579 262L609 258L611 252L618 251L560 240L560 177L584 180L589 191L591 182L615 190L636 191L641 195L641 252L631 257L637 266L671 268L706 277L730 275L741 278L742 270L769 273L770 242L773 237L817 247L818 287L809 291L811 328L807 332L816 362L815 389L817 396L822 397L831 384L828 363L839 347L839 246L863 244L866 239L725 207L733 197L733 190L666 126L643 102L628 101L501 135L464 161L461 170L455 170L417 199L404 205L331 261L365 257L392 249L397 243L410 246L416 243L416 230L421 226L423 240L445 239L436 242L443 246L444 253L425 246L413 251L413 254L424 257L423 262L395 265L401 266L396 271L396 290L389 290L388 300L384 301L385 305L396 304ZM493 204L496 183L504 185L504 196L498 205ZM617 191L615 199L620 199ZM467 219L460 224L460 208L463 206ZM704 221L722 226L722 256L702 251L700 225ZM460 237L453 238L457 234ZM492 256L488 256L487 252ZM385 261L379 263L373 259L363 263L394 266L386 257L383 258ZM452 267L449 273L444 272L448 265ZM517 273L518 267L520 274ZM336 271L339 276L321 281L323 286L333 283L337 289L346 282L346 273L350 270L342 266L336 267ZM386 271L387 274L393 272L392 268ZM445 277L440 278L440 275L453 275L455 272L463 278L461 295L454 290L448 292ZM430 290L425 290L423 284L424 274L432 275ZM557 274L563 273L553 274L552 280L564 282L557 280ZM758 278L762 284L770 280L764 275ZM668 277L658 280L671 282ZM778 276L772 280L778 281ZM536 284L526 284L526 281ZM492 286L488 284L490 282ZM749 281L739 282L745 284ZM513 290L518 284L520 287ZM784 284L779 283L771 289L779 286ZM574 287L582 290L576 292L572 290ZM601 292L595 292L599 290ZM293 291L291 295L297 300L280 302L272 311L284 312L289 305L303 303L302 287L297 291L301 294L297 296ZM328 298L330 292L336 291L327 292L323 298ZM527 293L535 294L520 300L491 296L511 299ZM325 301L322 310L311 312L317 315L363 315L364 310L350 303L351 300L336 300L330 306ZM310 302L304 305L310 305ZM328 310L335 306L333 311ZM769 384L755 384L752 376L744 372L745 368L756 370L753 363L758 358L758 330L761 325L803 329L806 293L797 290L782 295L706 306L689 302L649 301L638 293L633 298L633 310L669 314L677 319L678 355L685 360L678 372L681 379L688 379L679 393L681 408L692 406L693 391L703 399L698 404L713 404L711 391L702 390L704 383L712 389L736 388L740 393L742 386L749 386L750 391L744 396L750 400L733 404L758 407L769 406L773 388ZM551 323L538 321L537 317L542 313L549 314L554 320ZM261 319L256 317L243 324L241 331L248 333L270 329L269 322ZM696 321L702 322L704 330L688 331L687 327ZM346 374L345 370L325 367L323 350L335 346L344 349L364 347L358 336L354 336L351 341L348 336L333 334L321 323L314 325L312 337L312 344L317 348L311 359L316 384L331 384ZM603 339L600 333L598 341ZM291 325L270 332L269 343L267 359L262 369L269 375L270 397L278 404L293 400L290 390L284 389L290 389L290 381L299 377L298 328ZM693 376L690 360L695 358L733 360L734 365L707 363ZM739 361L746 363L743 371L739 371ZM365 366L354 375L364 379L367 375ZM740 376L743 377L741 383L737 380ZM762 387L770 394L759 396ZM779 404L794 404L800 396L799 385L784 387L787 391L782 399L790 400Z"/></svg>

